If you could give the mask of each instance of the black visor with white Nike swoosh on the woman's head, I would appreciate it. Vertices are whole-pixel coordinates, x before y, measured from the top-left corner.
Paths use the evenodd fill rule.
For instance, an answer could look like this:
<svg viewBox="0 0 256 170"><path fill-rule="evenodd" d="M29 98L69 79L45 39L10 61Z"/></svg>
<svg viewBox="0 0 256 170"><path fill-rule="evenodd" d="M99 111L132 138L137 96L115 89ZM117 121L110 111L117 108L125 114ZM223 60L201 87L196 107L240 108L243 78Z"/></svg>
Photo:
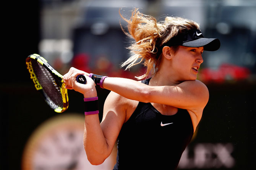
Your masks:
<svg viewBox="0 0 256 170"><path fill-rule="evenodd" d="M171 38L170 41L164 43L162 47L175 45L185 47L204 47L204 50L206 51L216 51L220 48L220 40L217 38L204 38L200 30L192 29Z"/></svg>

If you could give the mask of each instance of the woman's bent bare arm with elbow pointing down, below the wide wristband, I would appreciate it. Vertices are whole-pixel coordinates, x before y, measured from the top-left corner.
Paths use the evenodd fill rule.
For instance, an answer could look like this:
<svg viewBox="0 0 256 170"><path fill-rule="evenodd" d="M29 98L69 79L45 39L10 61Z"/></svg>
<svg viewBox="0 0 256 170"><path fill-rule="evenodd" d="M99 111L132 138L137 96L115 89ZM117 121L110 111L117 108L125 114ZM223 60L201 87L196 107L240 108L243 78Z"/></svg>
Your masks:
<svg viewBox="0 0 256 170"><path fill-rule="evenodd" d="M92 165L102 164L115 145L125 121L125 103L120 98L122 96L110 92L104 103L104 113L100 124L98 115L85 117L84 149Z"/></svg>

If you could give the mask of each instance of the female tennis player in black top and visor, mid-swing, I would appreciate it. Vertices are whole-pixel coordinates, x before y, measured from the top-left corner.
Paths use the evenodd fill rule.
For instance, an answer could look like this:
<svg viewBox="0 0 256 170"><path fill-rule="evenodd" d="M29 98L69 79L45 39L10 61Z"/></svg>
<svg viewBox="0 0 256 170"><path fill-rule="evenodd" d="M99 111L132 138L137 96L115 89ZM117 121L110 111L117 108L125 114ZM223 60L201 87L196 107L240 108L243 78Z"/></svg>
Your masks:
<svg viewBox="0 0 256 170"><path fill-rule="evenodd" d="M144 62L147 72L138 77L143 81L75 68L63 76L67 88L84 95L88 160L102 164L118 139L114 170L175 170L209 99L206 85L196 80L202 53L217 50L220 41L204 38L199 25L188 19L166 17L157 22L134 9L125 21L135 42L130 46L133 55L123 66L129 69ZM86 75L86 85L76 82L79 74ZM95 85L111 90L101 123Z"/></svg>

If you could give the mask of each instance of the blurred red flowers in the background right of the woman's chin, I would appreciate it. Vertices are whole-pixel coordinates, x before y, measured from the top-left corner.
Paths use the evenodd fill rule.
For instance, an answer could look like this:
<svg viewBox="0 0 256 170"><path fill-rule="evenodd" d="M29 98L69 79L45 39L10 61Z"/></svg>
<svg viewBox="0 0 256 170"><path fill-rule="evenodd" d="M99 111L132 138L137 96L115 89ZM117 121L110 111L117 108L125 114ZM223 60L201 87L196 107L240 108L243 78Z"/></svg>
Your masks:
<svg viewBox="0 0 256 170"><path fill-rule="evenodd" d="M203 82L223 83L227 80L245 80L250 73L250 70L246 67L222 64L218 69L202 69L200 72L200 79Z"/></svg>

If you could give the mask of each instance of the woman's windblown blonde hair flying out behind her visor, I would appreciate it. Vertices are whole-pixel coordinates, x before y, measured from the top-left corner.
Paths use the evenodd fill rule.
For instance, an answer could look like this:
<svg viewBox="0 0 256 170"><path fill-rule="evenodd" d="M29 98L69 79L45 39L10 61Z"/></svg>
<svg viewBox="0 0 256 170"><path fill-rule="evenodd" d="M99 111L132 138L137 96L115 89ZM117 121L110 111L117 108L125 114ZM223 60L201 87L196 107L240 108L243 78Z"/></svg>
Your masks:
<svg viewBox="0 0 256 170"><path fill-rule="evenodd" d="M157 22L156 18L140 13L138 8L133 9L129 20L125 19L121 13L120 16L128 23L128 32L121 26L122 30L135 40L128 47L132 54L131 57L121 66L127 65L125 69L127 70L139 63L143 63L147 67L147 71L144 75L136 77L139 80L156 74L161 60L161 46L164 43L187 30L200 29L198 23L180 17L167 16L165 21Z"/></svg>

